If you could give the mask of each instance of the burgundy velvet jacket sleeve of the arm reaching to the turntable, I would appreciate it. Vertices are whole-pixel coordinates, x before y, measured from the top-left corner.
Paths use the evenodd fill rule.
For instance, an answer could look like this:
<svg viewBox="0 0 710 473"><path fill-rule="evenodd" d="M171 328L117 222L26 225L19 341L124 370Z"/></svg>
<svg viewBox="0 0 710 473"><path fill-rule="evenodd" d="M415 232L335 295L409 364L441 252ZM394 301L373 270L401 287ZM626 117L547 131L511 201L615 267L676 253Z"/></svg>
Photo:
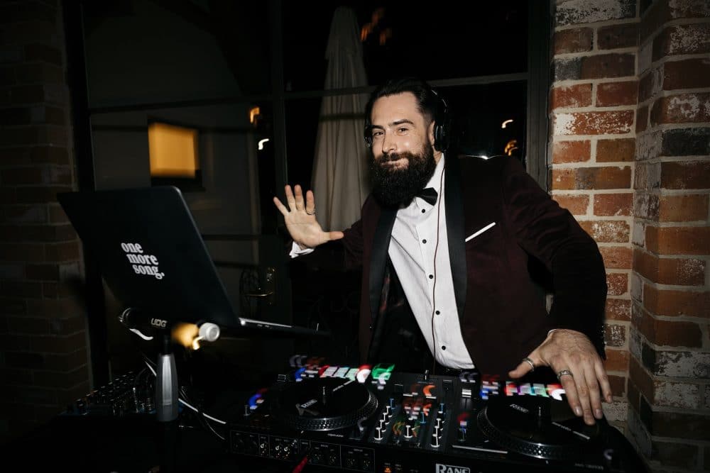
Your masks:
<svg viewBox="0 0 710 473"><path fill-rule="evenodd" d="M518 244L552 274L550 316L557 328L589 337L604 356L606 269L591 236L537 185L517 160L506 160L503 200Z"/></svg>

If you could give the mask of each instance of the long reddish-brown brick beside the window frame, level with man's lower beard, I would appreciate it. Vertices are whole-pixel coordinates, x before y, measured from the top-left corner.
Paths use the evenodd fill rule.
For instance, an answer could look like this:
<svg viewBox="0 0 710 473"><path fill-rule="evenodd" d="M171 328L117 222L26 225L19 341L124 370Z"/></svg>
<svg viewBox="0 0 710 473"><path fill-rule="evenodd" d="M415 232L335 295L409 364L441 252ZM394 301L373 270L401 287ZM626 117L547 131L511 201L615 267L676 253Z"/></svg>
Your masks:
<svg viewBox="0 0 710 473"><path fill-rule="evenodd" d="M628 189L630 167L577 167L552 169L552 189Z"/></svg>

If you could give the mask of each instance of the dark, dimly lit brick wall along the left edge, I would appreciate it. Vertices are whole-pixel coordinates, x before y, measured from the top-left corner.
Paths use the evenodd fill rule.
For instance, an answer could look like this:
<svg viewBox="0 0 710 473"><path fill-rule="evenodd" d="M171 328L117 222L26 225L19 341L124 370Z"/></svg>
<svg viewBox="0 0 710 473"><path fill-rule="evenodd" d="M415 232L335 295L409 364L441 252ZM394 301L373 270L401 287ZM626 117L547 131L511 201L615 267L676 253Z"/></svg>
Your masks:
<svg viewBox="0 0 710 473"><path fill-rule="evenodd" d="M89 389L80 244L55 199L75 183L56 1L0 4L0 441Z"/></svg>

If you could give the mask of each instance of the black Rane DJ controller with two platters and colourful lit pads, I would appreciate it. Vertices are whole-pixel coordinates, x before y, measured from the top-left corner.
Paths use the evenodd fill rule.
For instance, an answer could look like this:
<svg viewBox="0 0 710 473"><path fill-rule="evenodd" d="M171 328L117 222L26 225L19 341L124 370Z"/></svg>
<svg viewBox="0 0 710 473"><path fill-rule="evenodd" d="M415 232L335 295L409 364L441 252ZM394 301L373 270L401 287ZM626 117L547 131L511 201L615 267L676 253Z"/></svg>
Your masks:
<svg viewBox="0 0 710 473"><path fill-rule="evenodd" d="M590 426L574 416L559 384L476 371L451 377L296 365L245 399L229 423L231 453L283 462L293 472L646 470L606 420Z"/></svg>

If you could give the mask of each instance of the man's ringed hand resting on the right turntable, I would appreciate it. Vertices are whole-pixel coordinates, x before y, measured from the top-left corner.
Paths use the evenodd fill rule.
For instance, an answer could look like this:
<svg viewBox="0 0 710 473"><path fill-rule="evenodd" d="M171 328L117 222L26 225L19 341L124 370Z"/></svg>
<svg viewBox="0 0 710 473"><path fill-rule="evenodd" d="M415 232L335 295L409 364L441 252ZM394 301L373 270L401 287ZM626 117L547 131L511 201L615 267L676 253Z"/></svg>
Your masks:
<svg viewBox="0 0 710 473"><path fill-rule="evenodd" d="M584 423L594 425L595 418L602 418L601 400L611 402L611 386L601 358L584 333L562 328L552 331L508 376L520 378L540 366L557 373L569 406L584 417Z"/></svg>

